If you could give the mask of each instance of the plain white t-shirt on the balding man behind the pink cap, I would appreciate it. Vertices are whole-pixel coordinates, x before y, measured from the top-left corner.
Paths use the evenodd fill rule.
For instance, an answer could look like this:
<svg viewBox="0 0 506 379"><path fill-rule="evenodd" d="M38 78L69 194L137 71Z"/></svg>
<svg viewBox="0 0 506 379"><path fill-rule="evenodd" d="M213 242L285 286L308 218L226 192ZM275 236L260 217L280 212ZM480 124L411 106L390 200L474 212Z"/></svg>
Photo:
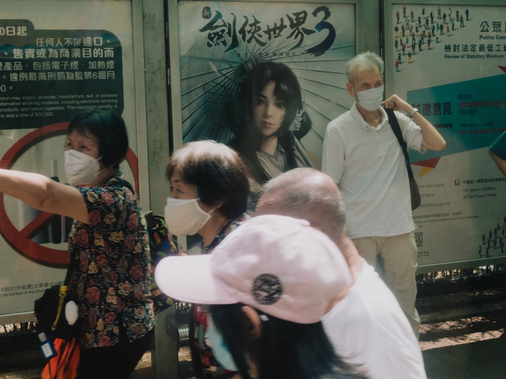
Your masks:
<svg viewBox="0 0 506 379"><path fill-rule="evenodd" d="M383 280L364 260L346 297L322 318L335 351L371 379L426 379L413 329Z"/></svg>

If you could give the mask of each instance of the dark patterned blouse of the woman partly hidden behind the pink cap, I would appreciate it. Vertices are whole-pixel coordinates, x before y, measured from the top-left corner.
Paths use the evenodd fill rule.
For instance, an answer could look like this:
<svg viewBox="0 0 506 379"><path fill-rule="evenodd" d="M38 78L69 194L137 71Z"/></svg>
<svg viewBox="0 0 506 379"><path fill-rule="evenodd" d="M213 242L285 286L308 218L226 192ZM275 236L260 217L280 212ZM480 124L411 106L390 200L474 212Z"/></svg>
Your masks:
<svg viewBox="0 0 506 379"><path fill-rule="evenodd" d="M211 254L213 249L217 247L223 239L235 228L242 225L250 217L247 214L230 220L215 237L212 243L208 246L201 248L202 254ZM215 378L228 378L235 374L233 371L226 370L216 360L213 351L206 344L206 329L207 329L207 306L198 304L193 305L190 319L190 349L193 366L196 374L199 377L215 377ZM199 365L197 362L200 362ZM202 372L200 372L202 371Z"/></svg>

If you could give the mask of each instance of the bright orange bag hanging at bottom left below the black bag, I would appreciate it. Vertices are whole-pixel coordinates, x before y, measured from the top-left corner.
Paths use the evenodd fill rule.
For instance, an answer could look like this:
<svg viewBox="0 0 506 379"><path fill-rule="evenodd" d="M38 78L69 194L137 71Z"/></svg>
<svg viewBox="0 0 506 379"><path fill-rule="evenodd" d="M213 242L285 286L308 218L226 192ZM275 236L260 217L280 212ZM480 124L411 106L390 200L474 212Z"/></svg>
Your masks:
<svg viewBox="0 0 506 379"><path fill-rule="evenodd" d="M63 340L55 338L53 342L56 356L51 358L44 370L42 379L74 379L79 364L79 341L77 338Z"/></svg>

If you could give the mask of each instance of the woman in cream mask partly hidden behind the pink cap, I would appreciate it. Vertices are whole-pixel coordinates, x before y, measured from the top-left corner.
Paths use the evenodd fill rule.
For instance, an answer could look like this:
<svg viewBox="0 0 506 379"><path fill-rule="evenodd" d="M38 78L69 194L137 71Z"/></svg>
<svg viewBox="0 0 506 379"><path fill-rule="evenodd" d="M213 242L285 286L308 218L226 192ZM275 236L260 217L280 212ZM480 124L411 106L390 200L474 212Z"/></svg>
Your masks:
<svg viewBox="0 0 506 379"><path fill-rule="evenodd" d="M202 237L201 254L210 254L249 218L244 213L249 192L246 167L226 145L212 140L190 142L172 155L166 175L171 181L171 196L165 207L168 230L176 235L198 233ZM231 377L234 372L222 367L206 344L206 330L207 308L194 305L190 348L195 376Z"/></svg>

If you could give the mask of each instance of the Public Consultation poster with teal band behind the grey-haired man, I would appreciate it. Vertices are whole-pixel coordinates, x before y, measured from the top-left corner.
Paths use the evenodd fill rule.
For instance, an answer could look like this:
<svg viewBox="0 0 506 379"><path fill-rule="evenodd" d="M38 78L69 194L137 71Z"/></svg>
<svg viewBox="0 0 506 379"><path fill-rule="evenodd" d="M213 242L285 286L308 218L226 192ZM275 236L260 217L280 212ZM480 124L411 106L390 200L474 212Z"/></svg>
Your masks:
<svg viewBox="0 0 506 379"><path fill-rule="evenodd" d="M446 139L410 153L422 204L418 264L476 267L506 255L506 178L488 146L506 130L506 7L394 4L393 93Z"/></svg>

